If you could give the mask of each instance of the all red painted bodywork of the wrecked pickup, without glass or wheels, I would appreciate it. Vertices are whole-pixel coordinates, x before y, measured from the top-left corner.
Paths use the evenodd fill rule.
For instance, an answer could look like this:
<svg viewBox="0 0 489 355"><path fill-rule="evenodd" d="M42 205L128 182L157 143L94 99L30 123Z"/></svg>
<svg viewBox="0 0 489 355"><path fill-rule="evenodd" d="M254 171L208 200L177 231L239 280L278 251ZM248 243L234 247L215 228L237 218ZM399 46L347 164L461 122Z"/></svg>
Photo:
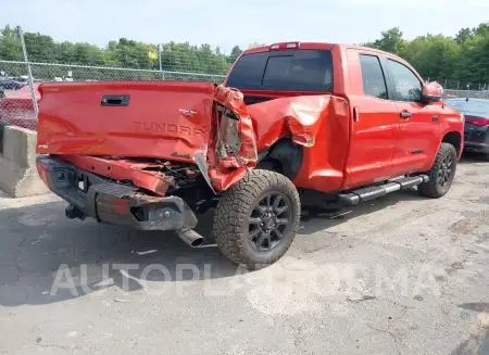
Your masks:
<svg viewBox="0 0 489 355"><path fill-rule="evenodd" d="M83 155L190 163L196 154L203 154L213 187L225 190L255 166L256 152L287 136L303 145L296 186L327 192L426 172L444 135L457 132L463 139L460 114L441 103L399 102L364 94L359 53L394 59L418 76L401 59L352 46L300 43L300 48L331 50L334 92L240 92L213 84L171 81L42 86L38 152L70 155L67 160L85 168L97 162L101 166L97 173L106 176L104 168L113 165L112 176L130 178L140 187L160 189L162 194L165 188L161 178L150 172L143 176L135 173L141 167L130 160ZM265 50L269 47L246 53ZM438 92L435 91L426 92ZM130 104L101 106L104 94L130 94ZM273 100L247 106L247 96ZM216 103L239 116L241 149L223 160L215 150L220 125L213 110ZM402 119L402 111L411 112L412 117ZM436 122L434 116L438 117Z"/></svg>

